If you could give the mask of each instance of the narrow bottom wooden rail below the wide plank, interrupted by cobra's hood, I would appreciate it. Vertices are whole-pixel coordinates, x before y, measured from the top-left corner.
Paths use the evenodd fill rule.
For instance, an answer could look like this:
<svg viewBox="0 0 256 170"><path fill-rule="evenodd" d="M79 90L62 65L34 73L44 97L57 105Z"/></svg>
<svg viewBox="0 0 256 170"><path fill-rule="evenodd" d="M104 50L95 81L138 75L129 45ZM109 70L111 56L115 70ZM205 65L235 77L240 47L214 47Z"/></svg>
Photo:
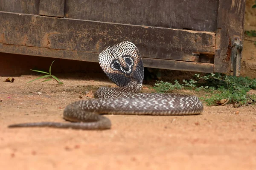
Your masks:
<svg viewBox="0 0 256 170"><path fill-rule="evenodd" d="M0 43L0 52L12 54L26 54L32 56L73 59L80 61L98 62L99 53L83 51L55 50L49 48L29 47L24 45L8 45ZM144 67L162 68L181 71L213 72L213 64L199 62L173 61L166 59L143 58Z"/></svg>

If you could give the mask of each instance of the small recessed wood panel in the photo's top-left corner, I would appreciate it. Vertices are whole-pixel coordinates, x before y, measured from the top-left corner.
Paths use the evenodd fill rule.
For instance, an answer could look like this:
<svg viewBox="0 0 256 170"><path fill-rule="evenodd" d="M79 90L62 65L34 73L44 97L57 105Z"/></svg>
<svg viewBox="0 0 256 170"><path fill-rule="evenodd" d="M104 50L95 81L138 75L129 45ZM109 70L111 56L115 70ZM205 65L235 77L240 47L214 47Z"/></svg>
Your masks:
<svg viewBox="0 0 256 170"><path fill-rule="evenodd" d="M0 0L0 11L38 14L40 0Z"/></svg>

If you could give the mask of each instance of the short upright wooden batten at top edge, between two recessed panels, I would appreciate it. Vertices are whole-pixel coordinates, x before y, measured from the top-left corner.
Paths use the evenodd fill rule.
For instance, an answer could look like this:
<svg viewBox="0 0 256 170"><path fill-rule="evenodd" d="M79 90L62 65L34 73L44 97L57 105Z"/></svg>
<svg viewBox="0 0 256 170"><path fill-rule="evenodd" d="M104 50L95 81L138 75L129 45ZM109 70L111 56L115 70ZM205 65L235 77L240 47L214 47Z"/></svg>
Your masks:
<svg viewBox="0 0 256 170"><path fill-rule="evenodd" d="M39 15L64 17L65 0L40 0Z"/></svg>

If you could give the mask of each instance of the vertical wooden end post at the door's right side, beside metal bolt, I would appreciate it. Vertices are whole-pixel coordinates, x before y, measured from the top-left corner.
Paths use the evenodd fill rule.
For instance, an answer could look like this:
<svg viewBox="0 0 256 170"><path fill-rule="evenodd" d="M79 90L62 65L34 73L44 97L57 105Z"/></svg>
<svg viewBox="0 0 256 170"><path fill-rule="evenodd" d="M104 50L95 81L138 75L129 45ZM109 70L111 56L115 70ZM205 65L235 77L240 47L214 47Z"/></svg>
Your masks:
<svg viewBox="0 0 256 170"><path fill-rule="evenodd" d="M243 40L244 11L245 0L219 0L214 59L215 72L230 73L233 42L236 38ZM240 65L241 58L236 59L236 63ZM235 72L236 76L240 74L239 70Z"/></svg>

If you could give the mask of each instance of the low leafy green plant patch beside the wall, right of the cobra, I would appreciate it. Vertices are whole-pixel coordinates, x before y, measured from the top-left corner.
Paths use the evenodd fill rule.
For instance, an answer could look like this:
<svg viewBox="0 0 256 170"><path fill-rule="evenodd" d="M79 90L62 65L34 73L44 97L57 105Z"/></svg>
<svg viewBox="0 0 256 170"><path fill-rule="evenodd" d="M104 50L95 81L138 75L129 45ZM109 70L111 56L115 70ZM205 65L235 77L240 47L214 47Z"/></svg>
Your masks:
<svg viewBox="0 0 256 170"><path fill-rule="evenodd" d="M158 81L154 89L159 93L167 93L175 89L203 90L207 94L200 99L207 105L225 105L227 103L243 105L256 101L255 95L247 94L251 89L256 89L256 79L213 73L206 76L195 74L195 77L196 79L189 81L183 80L182 84L179 84L177 80L175 80L175 84Z"/></svg>

